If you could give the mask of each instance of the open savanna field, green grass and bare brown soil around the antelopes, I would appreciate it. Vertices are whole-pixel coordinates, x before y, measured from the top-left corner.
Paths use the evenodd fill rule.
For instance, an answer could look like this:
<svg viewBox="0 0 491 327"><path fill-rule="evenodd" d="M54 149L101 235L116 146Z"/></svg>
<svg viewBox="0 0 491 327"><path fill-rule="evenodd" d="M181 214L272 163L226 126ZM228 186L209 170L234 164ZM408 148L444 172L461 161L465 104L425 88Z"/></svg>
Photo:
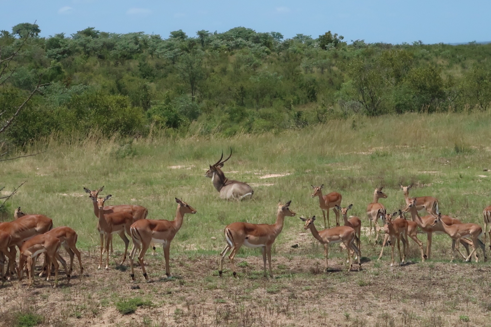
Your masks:
<svg viewBox="0 0 491 327"><path fill-rule="evenodd" d="M421 263L410 240L408 263L390 267L390 247L377 261L381 244L368 243L362 230L361 271L347 272L346 251L334 244L330 269L323 273L324 248L299 217L316 215L316 226L323 229L311 184L324 184L324 194L342 194L341 206L353 203L349 214L360 217L364 228L376 187L384 186L388 197L380 202L392 213L405 206L399 184L412 183L410 196L434 196L441 213L483 226L482 210L491 204L491 174L484 171L491 170L490 124L489 112L355 115L299 130L228 138L107 140L93 135L40 142L26 153L48 151L0 165L4 192L27 181L7 202L3 219L13 219L14 208L21 206L26 213L52 218L54 226L71 226L79 235L85 272L80 276L75 261L67 283L60 269L56 289L53 280L40 277L29 289L26 277L5 281L0 325L489 326L491 267L481 250L479 263L459 256L450 263L451 239L434 235L431 260ZM230 147L233 155L223 172L253 187L251 201L221 200L204 176ZM97 269L97 218L83 187L103 185L101 195L112 195L107 205L140 204L149 219L173 219L176 197L197 210L185 216L172 241L173 277L165 277L158 247L155 256L150 251L145 256L151 282L136 267L136 283L131 283L129 261L117 265L124 251L117 235L109 270ZM274 277L263 277L259 249L243 247L235 259L239 279L232 277L228 259L220 279L224 227L237 221L273 224L276 204L289 200L297 215L285 217L274 243ZM329 216L332 226L332 210ZM426 235L418 238L426 246Z"/></svg>

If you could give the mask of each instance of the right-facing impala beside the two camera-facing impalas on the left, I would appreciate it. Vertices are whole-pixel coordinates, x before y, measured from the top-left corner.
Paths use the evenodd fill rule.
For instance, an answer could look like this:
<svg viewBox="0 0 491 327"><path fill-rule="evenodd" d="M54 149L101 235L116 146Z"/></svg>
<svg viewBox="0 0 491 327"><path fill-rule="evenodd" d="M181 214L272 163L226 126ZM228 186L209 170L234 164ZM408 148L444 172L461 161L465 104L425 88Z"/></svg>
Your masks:
<svg viewBox="0 0 491 327"><path fill-rule="evenodd" d="M169 250L170 242L176 236L183 225L184 214L191 213L195 214L194 210L188 203L181 201L177 198L177 210L176 217L173 221L168 220L153 220L145 219L139 220L131 226L131 237L133 239L133 249L130 253L130 265L131 265L131 278L135 281L135 271L133 270L133 258L136 253L136 249L140 248L140 253L138 254L138 261L143 271L143 277L148 281L147 272L145 270L145 265L143 264L143 257L147 252L150 243L162 243L162 248L164 250L165 258L165 275L170 277L169 268Z"/></svg>

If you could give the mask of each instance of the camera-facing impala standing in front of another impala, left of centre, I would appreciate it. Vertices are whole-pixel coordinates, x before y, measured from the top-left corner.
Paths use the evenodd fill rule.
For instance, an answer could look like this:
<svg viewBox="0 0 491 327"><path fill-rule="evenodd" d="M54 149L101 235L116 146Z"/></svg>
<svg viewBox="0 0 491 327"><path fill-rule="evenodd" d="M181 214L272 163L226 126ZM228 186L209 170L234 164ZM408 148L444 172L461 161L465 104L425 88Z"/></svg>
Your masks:
<svg viewBox="0 0 491 327"><path fill-rule="evenodd" d="M104 247L104 239L106 239L106 269L109 268L109 242L112 238L112 234L118 234L124 242L125 249L123 254L123 260L120 265L126 260L126 253L128 252L128 244L130 240L125 235L125 231L130 235L130 226L133 224L133 215L126 211L114 212L112 210L104 209L104 202L111 198L109 194L106 198L97 198L97 207L99 209L99 223L97 225L99 230L99 236L101 237L101 256L99 259L99 267L102 266L102 248Z"/></svg>

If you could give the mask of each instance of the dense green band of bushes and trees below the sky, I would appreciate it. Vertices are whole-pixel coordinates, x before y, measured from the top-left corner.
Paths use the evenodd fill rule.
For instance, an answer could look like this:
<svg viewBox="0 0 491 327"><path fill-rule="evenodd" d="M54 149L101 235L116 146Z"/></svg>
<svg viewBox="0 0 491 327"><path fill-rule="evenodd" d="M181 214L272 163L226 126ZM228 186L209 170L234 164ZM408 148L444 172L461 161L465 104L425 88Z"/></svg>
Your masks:
<svg viewBox="0 0 491 327"><path fill-rule="evenodd" d="M235 27L168 38L89 27L39 37L38 25L1 31L0 111L43 86L8 130L25 144L53 132L226 135L301 128L353 114L487 110L491 44L344 42ZM1 67L0 67L1 68ZM196 121L193 123L193 121Z"/></svg>

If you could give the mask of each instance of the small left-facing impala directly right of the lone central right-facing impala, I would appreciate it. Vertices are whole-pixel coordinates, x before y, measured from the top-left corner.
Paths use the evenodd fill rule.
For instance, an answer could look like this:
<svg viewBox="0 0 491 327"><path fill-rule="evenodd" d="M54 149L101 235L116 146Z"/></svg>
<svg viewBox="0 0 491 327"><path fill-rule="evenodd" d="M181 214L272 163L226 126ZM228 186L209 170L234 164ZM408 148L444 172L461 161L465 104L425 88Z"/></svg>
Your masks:
<svg viewBox="0 0 491 327"><path fill-rule="evenodd" d="M358 271L361 269L361 253L356 247L355 244L355 229L348 227L348 226L339 226L339 227L332 227L328 229L321 230L320 232L317 231L317 228L314 226L314 221L315 221L315 216L309 219L305 219L303 217L300 217L300 219L305 222L304 229L310 229L312 232L312 235L319 241L321 244L324 244L324 254L326 255L326 269L324 269L324 272L327 272L327 268L329 267L327 263L327 258L328 258L328 246L330 243L340 243L342 242L345 247L346 251L348 252L348 271L350 271L353 267L353 257L352 257L352 252L356 253L356 256L358 257Z"/></svg>

